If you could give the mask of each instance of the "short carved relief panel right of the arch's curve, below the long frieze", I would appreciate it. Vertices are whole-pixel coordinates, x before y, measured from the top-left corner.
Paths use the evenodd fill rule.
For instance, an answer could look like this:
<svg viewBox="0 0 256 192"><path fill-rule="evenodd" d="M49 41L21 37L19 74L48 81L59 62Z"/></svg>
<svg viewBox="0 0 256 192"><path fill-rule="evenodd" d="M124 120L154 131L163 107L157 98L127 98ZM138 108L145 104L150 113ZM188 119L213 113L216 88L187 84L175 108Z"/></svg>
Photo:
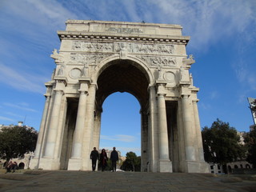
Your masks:
<svg viewBox="0 0 256 192"><path fill-rule="evenodd" d="M158 56L138 56L150 66L176 66L176 58Z"/></svg>

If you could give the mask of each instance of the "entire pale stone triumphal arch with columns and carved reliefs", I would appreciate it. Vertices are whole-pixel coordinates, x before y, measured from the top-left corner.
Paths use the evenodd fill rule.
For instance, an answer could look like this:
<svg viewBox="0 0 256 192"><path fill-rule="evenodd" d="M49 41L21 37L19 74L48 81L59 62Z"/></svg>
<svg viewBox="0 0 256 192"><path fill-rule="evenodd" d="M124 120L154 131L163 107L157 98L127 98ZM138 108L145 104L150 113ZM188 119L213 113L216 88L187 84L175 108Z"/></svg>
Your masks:
<svg viewBox="0 0 256 192"><path fill-rule="evenodd" d="M125 91L141 106L142 171L209 171L182 26L68 20L58 37L31 168L91 170L102 104Z"/></svg>

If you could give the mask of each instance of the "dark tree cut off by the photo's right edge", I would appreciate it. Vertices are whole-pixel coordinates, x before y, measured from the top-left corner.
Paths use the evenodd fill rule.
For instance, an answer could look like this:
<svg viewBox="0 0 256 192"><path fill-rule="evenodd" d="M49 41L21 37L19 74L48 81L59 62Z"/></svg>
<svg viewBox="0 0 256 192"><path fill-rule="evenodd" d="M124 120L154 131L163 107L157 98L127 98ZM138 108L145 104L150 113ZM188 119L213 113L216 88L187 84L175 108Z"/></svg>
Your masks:
<svg viewBox="0 0 256 192"><path fill-rule="evenodd" d="M256 168L256 129L250 130L246 135L245 143L247 146L246 161L253 164L254 168Z"/></svg>

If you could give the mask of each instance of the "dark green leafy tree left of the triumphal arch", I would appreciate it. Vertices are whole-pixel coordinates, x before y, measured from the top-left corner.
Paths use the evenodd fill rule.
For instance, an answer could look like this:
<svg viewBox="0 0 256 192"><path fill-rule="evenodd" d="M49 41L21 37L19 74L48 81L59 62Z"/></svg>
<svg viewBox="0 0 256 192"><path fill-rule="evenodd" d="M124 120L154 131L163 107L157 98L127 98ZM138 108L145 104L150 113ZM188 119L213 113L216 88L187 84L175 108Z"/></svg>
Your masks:
<svg viewBox="0 0 256 192"><path fill-rule="evenodd" d="M34 151L38 133L26 126L4 127L0 130L0 158L23 157L26 152Z"/></svg>

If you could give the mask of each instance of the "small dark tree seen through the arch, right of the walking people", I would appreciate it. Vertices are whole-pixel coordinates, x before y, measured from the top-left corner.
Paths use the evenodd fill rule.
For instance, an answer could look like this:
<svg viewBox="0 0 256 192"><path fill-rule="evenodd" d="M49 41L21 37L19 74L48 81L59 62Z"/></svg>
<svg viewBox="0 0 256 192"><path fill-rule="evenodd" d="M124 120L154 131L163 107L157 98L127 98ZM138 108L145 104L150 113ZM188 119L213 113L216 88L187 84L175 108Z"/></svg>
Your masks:
<svg viewBox="0 0 256 192"><path fill-rule="evenodd" d="M122 163L122 170L126 171L140 171L141 170L141 157L134 152L129 152L126 154L126 161Z"/></svg>

